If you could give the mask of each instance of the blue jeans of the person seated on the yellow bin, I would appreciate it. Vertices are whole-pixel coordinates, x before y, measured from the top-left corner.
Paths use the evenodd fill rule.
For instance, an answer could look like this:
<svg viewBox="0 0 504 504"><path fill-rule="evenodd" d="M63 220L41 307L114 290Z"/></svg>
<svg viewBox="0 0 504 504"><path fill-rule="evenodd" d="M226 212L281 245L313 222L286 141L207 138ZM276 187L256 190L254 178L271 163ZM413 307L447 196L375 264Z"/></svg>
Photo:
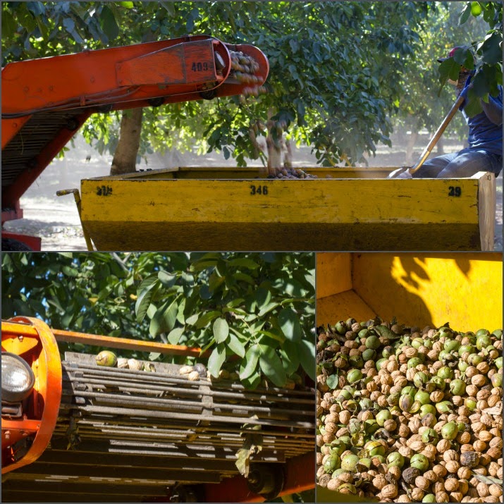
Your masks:
<svg viewBox="0 0 504 504"><path fill-rule="evenodd" d="M413 178L472 177L479 171L491 171L498 176L502 167L503 156L484 150L463 149L425 161L419 171L413 173Z"/></svg>

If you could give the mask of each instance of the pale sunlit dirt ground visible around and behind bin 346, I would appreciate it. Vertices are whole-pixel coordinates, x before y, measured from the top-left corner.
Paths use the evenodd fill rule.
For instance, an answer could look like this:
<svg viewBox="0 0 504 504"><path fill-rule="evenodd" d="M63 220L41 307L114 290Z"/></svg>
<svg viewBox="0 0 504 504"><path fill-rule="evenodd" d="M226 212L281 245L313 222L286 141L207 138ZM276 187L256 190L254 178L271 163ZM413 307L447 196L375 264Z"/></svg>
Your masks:
<svg viewBox="0 0 504 504"><path fill-rule="evenodd" d="M428 142L420 138L419 142ZM448 142L445 142L448 143ZM445 152L462 146L445 145ZM421 154L424 144L414 150L414 159ZM309 148L298 149L294 153L295 166L315 166ZM417 152L418 151L418 152ZM91 156L90 161L86 157ZM400 147L389 149L379 147L376 157L368 160L369 166L402 166L405 164L405 150ZM75 147L61 160L49 165L36 182L21 198L24 218L6 223L5 229L14 233L37 235L42 238L42 250L87 250L75 201L72 195L57 197L61 189L80 188L82 178L106 176L109 173L111 156L100 156L78 138ZM190 154L154 155L147 166L140 168L165 168L169 166L235 166L222 156L212 153L207 156ZM503 176L497 179L496 245L495 250L503 250Z"/></svg>

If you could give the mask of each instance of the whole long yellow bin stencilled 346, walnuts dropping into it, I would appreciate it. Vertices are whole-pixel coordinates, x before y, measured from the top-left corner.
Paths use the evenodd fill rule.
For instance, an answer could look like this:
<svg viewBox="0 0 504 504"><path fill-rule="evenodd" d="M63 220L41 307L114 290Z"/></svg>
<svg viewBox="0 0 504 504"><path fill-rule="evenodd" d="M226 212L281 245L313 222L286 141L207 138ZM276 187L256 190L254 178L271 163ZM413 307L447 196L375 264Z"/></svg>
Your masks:
<svg viewBox="0 0 504 504"><path fill-rule="evenodd" d="M173 168L81 182L98 250L493 250L495 177L387 179L394 168Z"/></svg>

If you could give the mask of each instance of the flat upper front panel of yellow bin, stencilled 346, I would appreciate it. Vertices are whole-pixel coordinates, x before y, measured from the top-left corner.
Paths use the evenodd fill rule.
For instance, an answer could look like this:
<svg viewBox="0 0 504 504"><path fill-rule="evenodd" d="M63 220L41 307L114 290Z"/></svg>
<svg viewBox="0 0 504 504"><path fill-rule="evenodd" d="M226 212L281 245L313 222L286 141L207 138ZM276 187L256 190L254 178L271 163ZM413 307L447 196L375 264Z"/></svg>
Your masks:
<svg viewBox="0 0 504 504"><path fill-rule="evenodd" d="M82 180L89 220L477 224L478 182L451 180ZM393 195L393 196L391 196ZM456 209L456 211L455 211ZM341 245L345 245L342 243Z"/></svg>

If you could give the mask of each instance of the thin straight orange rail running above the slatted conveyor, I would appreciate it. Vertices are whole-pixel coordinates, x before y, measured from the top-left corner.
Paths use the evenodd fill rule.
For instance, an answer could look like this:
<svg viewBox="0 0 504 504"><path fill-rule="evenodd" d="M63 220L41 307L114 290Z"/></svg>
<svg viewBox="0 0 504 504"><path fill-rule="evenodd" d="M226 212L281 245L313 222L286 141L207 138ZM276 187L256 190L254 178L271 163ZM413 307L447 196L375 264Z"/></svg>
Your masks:
<svg viewBox="0 0 504 504"><path fill-rule="evenodd" d="M1 331L13 336L18 334L37 335L35 328L32 326L17 324L13 321L2 321ZM187 357L209 357L210 355L208 350L202 352L202 349L197 347L168 345L167 343L115 338L113 336L97 336L96 334L75 333L73 331L62 331L61 329L51 329L51 331L56 341L65 343L82 343L84 345L121 348L122 350L136 350L137 352L159 352L166 355L185 355Z"/></svg>

